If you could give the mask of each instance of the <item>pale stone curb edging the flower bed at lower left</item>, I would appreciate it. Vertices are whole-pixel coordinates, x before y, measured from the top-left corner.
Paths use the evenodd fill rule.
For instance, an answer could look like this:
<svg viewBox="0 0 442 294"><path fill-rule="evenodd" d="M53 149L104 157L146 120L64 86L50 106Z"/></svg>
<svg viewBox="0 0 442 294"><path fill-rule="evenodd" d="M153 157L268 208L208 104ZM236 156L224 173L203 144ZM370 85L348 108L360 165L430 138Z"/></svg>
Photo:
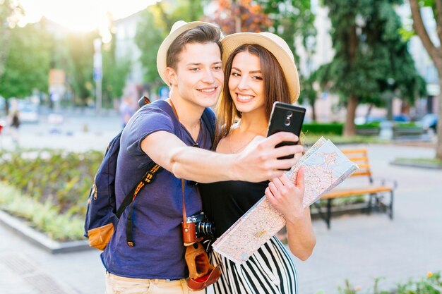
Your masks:
<svg viewBox="0 0 442 294"><path fill-rule="evenodd" d="M94 249L89 246L88 240L69 242L54 241L48 238L47 235L30 228L25 221L11 216L2 210L0 210L0 223L4 224L4 226L9 228L11 231L18 233L18 235L21 235L23 238L30 241L30 243L33 243L52 254Z"/></svg>

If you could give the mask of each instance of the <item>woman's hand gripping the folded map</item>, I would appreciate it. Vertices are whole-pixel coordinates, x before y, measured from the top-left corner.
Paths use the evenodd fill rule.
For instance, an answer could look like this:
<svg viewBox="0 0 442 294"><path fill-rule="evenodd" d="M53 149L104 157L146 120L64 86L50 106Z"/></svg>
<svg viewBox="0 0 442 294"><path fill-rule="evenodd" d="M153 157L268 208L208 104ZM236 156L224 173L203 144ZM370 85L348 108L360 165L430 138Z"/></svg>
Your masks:
<svg viewBox="0 0 442 294"><path fill-rule="evenodd" d="M286 175L273 178L265 189L268 201L285 216L287 221L304 216L304 169L297 173L296 183L293 183Z"/></svg>

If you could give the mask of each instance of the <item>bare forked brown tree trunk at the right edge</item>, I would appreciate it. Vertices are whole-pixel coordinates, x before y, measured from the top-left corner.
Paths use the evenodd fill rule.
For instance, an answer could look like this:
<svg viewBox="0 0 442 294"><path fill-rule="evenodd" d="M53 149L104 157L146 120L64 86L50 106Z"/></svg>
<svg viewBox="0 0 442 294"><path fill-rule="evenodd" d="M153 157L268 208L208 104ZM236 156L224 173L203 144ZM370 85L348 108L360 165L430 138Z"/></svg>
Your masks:
<svg viewBox="0 0 442 294"><path fill-rule="evenodd" d="M434 44L429 37L429 33L426 31L424 23L422 21L420 5L431 7L433 11L434 20L436 21L437 36L439 39L438 44ZM426 0L418 1L410 0L410 8L412 11L413 28L416 34L422 41L424 48L428 52L430 58L436 66L439 77L439 87L441 92L438 94L438 125L437 125L437 145L436 145L436 158L442 160L442 0Z"/></svg>

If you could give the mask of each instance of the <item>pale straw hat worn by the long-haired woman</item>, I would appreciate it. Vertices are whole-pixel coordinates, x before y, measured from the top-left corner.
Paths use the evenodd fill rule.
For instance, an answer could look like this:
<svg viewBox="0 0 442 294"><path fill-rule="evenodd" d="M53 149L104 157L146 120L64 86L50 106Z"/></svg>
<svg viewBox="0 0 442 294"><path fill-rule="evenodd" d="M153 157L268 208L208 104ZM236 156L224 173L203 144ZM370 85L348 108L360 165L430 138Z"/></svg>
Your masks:
<svg viewBox="0 0 442 294"><path fill-rule="evenodd" d="M226 64L230 54L244 44L258 44L270 51L275 56L285 75L289 86L291 102L294 103L299 97L299 76L294 64L293 53L289 45L281 37L271 32L237 32L227 35L222 39L222 64Z"/></svg>

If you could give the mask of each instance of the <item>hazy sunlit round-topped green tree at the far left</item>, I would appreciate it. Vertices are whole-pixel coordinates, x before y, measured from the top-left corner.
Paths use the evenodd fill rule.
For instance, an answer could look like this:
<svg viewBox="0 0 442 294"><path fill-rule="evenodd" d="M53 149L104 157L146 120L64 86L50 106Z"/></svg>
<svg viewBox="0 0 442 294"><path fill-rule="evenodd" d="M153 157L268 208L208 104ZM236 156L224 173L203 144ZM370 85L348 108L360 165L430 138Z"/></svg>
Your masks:
<svg viewBox="0 0 442 294"><path fill-rule="evenodd" d="M26 97L33 90L46 92L54 41L40 24L14 27L8 42L0 93Z"/></svg>

